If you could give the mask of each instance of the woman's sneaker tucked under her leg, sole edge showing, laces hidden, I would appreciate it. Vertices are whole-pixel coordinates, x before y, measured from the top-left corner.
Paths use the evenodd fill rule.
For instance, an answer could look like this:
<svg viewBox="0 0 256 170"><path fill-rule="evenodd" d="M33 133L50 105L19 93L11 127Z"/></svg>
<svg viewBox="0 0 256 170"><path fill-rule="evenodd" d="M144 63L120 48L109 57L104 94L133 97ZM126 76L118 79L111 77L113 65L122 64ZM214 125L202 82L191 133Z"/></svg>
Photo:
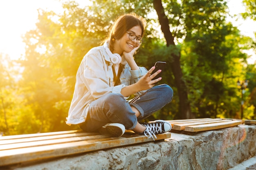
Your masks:
<svg viewBox="0 0 256 170"><path fill-rule="evenodd" d="M123 124L112 123L106 124L99 129L102 135L111 135L112 137L120 137L124 135L125 127Z"/></svg>

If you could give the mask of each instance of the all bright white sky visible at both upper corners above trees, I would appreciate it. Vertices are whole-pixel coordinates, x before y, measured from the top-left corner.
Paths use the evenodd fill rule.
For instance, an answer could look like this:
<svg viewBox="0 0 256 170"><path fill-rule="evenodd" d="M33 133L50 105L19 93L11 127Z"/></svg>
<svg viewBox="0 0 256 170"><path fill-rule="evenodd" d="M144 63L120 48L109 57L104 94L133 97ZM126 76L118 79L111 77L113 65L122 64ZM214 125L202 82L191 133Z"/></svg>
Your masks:
<svg viewBox="0 0 256 170"><path fill-rule="evenodd" d="M22 43L21 35L35 28L38 13L37 9L52 10L56 13L60 12L61 4L66 0L0 0L0 53L8 54L12 59L18 59L25 53L25 44ZM242 0L229 0L229 10L232 15L245 11ZM81 7L88 4L88 0L76 0ZM252 20L243 20L238 18L230 19L234 26L243 35L254 38L254 28L256 22ZM248 52L254 55L248 60L254 63L256 60L253 51Z"/></svg>

